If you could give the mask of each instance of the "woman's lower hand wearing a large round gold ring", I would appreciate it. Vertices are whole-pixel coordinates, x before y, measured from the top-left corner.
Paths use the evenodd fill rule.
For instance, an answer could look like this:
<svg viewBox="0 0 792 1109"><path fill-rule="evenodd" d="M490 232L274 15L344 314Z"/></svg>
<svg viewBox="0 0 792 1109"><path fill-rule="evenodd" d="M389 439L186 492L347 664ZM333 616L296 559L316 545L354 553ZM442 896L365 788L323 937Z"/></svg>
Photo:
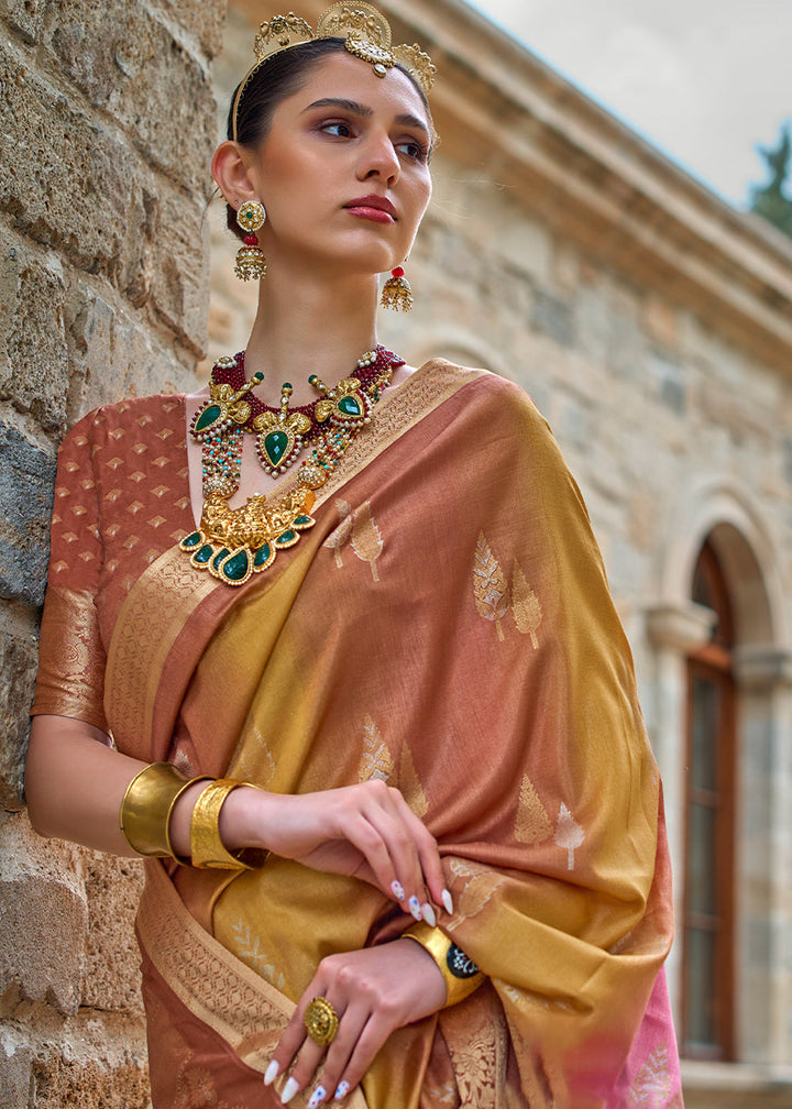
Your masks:
<svg viewBox="0 0 792 1109"><path fill-rule="evenodd" d="M303 1024L315 997L326 998L338 1015L338 1029L328 1047L309 1039ZM301 997L265 1081L274 1081L293 1067L282 1095L285 1103L315 1080L324 1061L322 1085L308 1105L314 1109L333 1101L336 1093L341 1100L357 1086L393 1031L437 1013L445 1001L440 970L413 939L329 955Z"/></svg>

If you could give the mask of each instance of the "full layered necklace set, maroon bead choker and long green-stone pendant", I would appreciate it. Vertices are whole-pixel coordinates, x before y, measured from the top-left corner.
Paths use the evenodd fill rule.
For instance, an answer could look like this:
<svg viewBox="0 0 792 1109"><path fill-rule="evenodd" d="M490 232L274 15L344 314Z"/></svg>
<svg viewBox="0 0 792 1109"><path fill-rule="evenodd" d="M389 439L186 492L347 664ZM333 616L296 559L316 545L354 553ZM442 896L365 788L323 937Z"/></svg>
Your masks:
<svg viewBox="0 0 792 1109"><path fill-rule="evenodd" d="M302 532L313 528L315 490L327 481L349 445L370 423L372 408L389 385L394 368L404 365L384 347L364 358L370 358L366 368L376 366L376 373L367 374L365 383L361 375L344 378L328 389L312 374L311 384L323 394L309 406L313 418L304 410L288 411L288 383L284 383L278 413L261 401L257 404L263 410L255 411L257 398L250 390L263 380L262 374L234 387L230 380L215 380L213 373L210 399L195 414L190 428L202 444L201 526L179 545L195 569L207 570L226 586L242 586L251 574L267 570L278 551L294 547ZM358 369L363 360L358 360ZM216 366L222 364L227 369L230 363L236 365L235 359L221 359ZM295 416L303 419L295 420ZM314 421L318 435L313 435ZM240 508L231 508L229 501L240 488L245 430L257 435L258 458L271 474L282 472L294 461L304 436L314 446L297 470L297 485L292 491L273 503L262 494L250 497Z"/></svg>

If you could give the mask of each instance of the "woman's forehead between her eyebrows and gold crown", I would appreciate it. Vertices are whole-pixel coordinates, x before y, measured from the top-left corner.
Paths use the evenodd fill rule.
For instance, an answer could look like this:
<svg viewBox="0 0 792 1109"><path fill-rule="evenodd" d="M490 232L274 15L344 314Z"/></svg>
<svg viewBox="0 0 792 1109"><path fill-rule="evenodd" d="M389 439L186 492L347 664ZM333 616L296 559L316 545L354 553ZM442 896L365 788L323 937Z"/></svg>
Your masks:
<svg viewBox="0 0 792 1109"><path fill-rule="evenodd" d="M299 113L324 99L354 100L384 114L415 115L431 128L424 102L406 73L394 67L384 78L377 77L369 62L346 51L328 54L313 67L297 92L278 108Z"/></svg>

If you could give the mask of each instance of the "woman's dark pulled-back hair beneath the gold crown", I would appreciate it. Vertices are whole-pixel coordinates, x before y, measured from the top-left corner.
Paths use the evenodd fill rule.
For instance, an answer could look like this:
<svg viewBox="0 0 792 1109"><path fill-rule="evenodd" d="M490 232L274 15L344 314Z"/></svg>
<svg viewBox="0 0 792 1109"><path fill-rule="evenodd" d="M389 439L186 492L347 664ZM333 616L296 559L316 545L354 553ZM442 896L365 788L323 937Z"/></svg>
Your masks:
<svg viewBox="0 0 792 1109"><path fill-rule="evenodd" d="M251 75L240 98L236 111L236 141L243 146L257 146L262 143L267 136L277 105L298 92L315 67L328 54L346 52L343 39L312 39L311 42L301 42L297 47L281 50L262 62ZM431 112L424 90L403 65L397 68L412 81L431 123ZM229 139L234 138L234 102L237 91L238 85L234 90L229 109L226 124ZM230 204L226 223L235 235L244 238L245 233L237 224L236 212Z"/></svg>

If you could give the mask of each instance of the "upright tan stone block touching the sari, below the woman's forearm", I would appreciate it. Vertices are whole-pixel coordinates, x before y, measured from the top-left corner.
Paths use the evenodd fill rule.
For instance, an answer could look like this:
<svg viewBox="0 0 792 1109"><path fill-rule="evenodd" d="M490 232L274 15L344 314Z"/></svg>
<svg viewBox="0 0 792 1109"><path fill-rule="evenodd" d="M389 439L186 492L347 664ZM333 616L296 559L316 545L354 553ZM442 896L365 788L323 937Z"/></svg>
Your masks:
<svg viewBox="0 0 792 1109"><path fill-rule="evenodd" d="M133 920L143 889L143 865L133 858L92 854L83 874L90 923L82 1004L142 1016Z"/></svg>

